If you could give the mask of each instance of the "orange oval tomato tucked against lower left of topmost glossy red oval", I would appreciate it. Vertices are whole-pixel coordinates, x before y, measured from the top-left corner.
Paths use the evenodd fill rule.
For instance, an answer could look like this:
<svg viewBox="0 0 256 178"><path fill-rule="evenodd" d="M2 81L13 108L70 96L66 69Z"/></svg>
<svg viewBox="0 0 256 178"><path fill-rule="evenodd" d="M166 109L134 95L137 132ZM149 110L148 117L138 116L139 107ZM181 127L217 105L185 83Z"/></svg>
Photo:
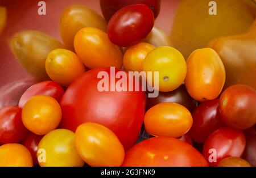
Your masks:
<svg viewBox="0 0 256 178"><path fill-rule="evenodd" d="M74 41L77 56L86 67L122 67L123 54L108 35L97 28L82 28L76 33Z"/></svg>

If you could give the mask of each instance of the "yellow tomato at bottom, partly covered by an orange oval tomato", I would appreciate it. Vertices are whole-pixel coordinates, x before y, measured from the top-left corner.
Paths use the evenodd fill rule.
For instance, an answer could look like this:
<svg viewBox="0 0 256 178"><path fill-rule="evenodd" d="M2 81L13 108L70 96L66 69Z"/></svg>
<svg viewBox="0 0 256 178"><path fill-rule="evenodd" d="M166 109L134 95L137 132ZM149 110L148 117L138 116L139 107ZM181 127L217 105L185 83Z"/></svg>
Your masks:
<svg viewBox="0 0 256 178"><path fill-rule="evenodd" d="M84 161L76 150L75 133L67 129L52 130L44 135L38 144L37 156L42 167L84 166ZM46 161L40 161L43 158Z"/></svg>

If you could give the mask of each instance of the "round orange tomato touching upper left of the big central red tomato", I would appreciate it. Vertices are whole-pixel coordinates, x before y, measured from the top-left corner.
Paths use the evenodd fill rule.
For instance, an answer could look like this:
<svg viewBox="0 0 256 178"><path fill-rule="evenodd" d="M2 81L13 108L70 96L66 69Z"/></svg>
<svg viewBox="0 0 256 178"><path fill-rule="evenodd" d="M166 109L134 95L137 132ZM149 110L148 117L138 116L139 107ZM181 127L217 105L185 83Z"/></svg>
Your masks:
<svg viewBox="0 0 256 178"><path fill-rule="evenodd" d="M67 87L85 72L85 67L76 53L67 49L55 49L46 59L46 72L53 81Z"/></svg>

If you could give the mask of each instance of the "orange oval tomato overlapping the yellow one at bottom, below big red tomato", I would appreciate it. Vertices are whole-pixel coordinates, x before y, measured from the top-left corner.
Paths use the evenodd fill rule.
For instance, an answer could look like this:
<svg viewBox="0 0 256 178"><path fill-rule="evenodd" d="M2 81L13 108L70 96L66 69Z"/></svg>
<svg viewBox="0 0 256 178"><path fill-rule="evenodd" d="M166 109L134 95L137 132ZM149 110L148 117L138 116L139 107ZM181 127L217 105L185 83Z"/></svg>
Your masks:
<svg viewBox="0 0 256 178"><path fill-rule="evenodd" d="M117 136L103 125L87 122L76 129L76 147L90 166L121 166L125 150Z"/></svg>

